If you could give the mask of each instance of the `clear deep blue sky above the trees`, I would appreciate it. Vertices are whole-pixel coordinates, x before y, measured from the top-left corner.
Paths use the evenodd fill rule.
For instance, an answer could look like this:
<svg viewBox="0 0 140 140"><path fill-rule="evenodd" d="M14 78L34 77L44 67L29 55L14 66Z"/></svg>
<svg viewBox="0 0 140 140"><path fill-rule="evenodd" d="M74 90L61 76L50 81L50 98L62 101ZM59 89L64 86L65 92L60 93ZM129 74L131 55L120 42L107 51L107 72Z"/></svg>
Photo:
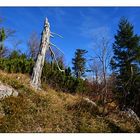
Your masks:
<svg viewBox="0 0 140 140"><path fill-rule="evenodd" d="M140 34L140 8L135 7L1 7L0 26L16 30L16 37L22 40L19 46L27 51L27 40L33 31L41 34L45 17L48 17L51 31L64 38L52 39L65 54L67 65L77 48L88 50L92 56L93 44L101 36L106 36L110 45L118 28L119 19L124 16Z"/></svg>

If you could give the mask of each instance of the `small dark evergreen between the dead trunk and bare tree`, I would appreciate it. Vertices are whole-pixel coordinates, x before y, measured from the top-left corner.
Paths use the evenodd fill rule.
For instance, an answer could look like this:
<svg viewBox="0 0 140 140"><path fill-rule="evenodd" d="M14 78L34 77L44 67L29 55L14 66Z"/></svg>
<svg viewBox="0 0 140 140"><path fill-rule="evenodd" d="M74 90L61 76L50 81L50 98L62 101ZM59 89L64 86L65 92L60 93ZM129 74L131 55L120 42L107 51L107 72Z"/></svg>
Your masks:
<svg viewBox="0 0 140 140"><path fill-rule="evenodd" d="M74 70L74 74L77 78L81 78L85 74L86 58L84 57L84 54L86 53L86 50L77 49L75 52L75 58L72 59L72 69Z"/></svg>

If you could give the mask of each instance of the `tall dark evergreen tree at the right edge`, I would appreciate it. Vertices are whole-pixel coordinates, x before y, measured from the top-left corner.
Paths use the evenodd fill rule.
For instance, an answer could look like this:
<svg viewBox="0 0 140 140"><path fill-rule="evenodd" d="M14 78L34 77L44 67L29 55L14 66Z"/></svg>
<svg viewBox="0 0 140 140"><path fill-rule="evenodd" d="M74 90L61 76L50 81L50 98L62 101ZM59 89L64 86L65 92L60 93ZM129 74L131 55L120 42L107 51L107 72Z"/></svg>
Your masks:
<svg viewBox="0 0 140 140"><path fill-rule="evenodd" d="M119 101L123 106L137 110L139 101L136 99L140 99L140 37L134 33L133 25L125 18L120 20L113 51L111 66L117 78L115 89Z"/></svg>

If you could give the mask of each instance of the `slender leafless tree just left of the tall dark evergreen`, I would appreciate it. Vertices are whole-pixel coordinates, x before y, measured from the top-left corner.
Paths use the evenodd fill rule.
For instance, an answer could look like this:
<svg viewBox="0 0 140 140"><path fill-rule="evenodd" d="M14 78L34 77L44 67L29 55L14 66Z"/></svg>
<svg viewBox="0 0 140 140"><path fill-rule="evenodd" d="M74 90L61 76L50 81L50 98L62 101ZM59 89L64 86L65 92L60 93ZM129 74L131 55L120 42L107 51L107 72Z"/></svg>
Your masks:
<svg viewBox="0 0 140 140"><path fill-rule="evenodd" d="M105 37L102 37L94 46L94 56L92 57L92 60L94 63L93 67L96 73L99 69L98 66L100 66L101 68L100 83L102 84L103 88L101 89L100 93L102 95L103 104L105 104L107 100L106 99L108 93L107 78L108 78L108 68L110 64L111 55L112 55L112 51L109 45L109 40L106 39Z"/></svg>

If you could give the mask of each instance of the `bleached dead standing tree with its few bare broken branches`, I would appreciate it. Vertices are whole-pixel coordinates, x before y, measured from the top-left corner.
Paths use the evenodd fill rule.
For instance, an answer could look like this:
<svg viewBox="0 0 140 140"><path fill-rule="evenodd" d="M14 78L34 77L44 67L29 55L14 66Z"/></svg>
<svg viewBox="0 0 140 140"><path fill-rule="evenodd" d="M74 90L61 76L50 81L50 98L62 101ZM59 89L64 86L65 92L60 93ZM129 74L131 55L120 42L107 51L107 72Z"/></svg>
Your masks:
<svg viewBox="0 0 140 140"><path fill-rule="evenodd" d="M60 36L60 35L58 35L56 33L52 33L50 31L50 24L48 22L48 19L46 18L45 23L44 23L42 36L41 36L39 53L37 55L37 60L36 60L36 63L34 65L33 73L32 73L32 76L31 76L31 85L35 89L40 89L40 87L41 87L41 75L42 75L42 69L43 69L43 66L44 66L44 61L45 61L47 50L50 50L50 52L51 52L51 54L52 54L52 56L53 56L53 58L54 58L54 60L57 64L58 69L61 72L64 71L59 67L58 61L56 59L56 55L55 55L55 53L52 49L52 46L54 46L59 51L61 51L56 45L54 45L53 43L50 42L50 37L54 37L53 35Z"/></svg>

